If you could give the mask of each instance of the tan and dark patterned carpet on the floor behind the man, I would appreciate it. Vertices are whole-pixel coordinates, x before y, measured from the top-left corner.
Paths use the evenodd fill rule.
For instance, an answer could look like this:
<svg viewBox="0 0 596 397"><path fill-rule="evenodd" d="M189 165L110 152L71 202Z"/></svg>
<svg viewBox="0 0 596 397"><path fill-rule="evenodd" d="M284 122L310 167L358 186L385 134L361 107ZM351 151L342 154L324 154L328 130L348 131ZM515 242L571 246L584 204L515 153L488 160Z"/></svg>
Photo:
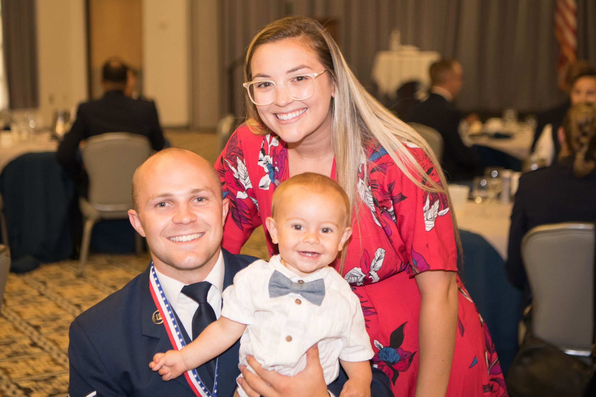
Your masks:
<svg viewBox="0 0 596 397"><path fill-rule="evenodd" d="M214 134L168 131L166 136L173 146L216 159ZM242 253L268 258L262 228ZM148 254L92 253L80 278L74 260L9 274L0 313L0 396L66 395L70 322L144 271L148 262Z"/></svg>

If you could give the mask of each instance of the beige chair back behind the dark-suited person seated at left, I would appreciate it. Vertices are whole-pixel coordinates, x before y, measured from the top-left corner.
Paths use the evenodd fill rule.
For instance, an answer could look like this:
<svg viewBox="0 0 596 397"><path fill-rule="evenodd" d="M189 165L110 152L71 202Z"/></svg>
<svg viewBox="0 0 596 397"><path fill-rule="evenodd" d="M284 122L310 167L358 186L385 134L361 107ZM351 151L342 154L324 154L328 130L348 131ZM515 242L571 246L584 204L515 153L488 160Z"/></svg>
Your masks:
<svg viewBox="0 0 596 397"><path fill-rule="evenodd" d="M149 157L147 137L108 132L87 139L83 163L89 176L89 202L100 211L132 208L132 175Z"/></svg>

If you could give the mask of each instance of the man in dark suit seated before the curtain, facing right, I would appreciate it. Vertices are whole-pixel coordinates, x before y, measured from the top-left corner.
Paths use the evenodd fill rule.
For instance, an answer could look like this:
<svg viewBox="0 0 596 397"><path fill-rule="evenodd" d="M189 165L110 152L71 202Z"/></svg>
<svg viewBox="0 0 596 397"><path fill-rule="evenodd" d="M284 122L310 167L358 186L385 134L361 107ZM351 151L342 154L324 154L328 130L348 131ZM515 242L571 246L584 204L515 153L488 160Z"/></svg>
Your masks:
<svg viewBox="0 0 596 397"><path fill-rule="evenodd" d="M442 59L430 66L429 73L429 98L412 108L406 122L429 126L441 134L445 145L442 166L449 181L471 179L479 175L479 163L473 149L461 139L459 129L464 117L453 103L461 91L461 65Z"/></svg>

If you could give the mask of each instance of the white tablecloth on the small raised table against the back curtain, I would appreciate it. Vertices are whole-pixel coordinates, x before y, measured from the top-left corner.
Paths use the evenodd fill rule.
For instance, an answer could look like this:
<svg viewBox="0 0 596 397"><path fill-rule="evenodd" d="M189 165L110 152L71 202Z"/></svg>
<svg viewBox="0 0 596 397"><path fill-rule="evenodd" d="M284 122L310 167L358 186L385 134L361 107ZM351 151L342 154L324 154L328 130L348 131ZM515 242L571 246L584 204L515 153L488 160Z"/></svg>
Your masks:
<svg viewBox="0 0 596 397"><path fill-rule="evenodd" d="M379 51L374 57L371 77L377 83L379 94L395 98L403 83L418 80L429 86L429 67L440 57L436 51Z"/></svg>

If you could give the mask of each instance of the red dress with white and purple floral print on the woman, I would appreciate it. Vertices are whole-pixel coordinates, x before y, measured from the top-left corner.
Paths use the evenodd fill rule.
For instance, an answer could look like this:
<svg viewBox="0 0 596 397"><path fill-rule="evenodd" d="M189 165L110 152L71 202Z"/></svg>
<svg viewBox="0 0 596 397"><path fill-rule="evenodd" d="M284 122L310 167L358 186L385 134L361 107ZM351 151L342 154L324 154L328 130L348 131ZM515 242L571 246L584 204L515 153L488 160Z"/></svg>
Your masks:
<svg viewBox="0 0 596 397"><path fill-rule="evenodd" d="M428 178L439 181L423 150L407 145ZM418 373L420 292L414 275L429 269L457 271L457 249L444 194L417 187L383 147L367 146L358 175L359 222L353 225L343 276L360 299L375 355L396 396L413 396ZM288 178L285 142L240 126L219 156L229 198L223 246L232 253L253 229L265 227L275 187ZM331 175L335 175L335 164ZM364 178L364 176L367 178ZM365 183L364 181L367 181ZM354 217L354 219L356 219ZM266 232L269 254L277 246ZM507 396L488 327L457 277L458 327L448 396Z"/></svg>

